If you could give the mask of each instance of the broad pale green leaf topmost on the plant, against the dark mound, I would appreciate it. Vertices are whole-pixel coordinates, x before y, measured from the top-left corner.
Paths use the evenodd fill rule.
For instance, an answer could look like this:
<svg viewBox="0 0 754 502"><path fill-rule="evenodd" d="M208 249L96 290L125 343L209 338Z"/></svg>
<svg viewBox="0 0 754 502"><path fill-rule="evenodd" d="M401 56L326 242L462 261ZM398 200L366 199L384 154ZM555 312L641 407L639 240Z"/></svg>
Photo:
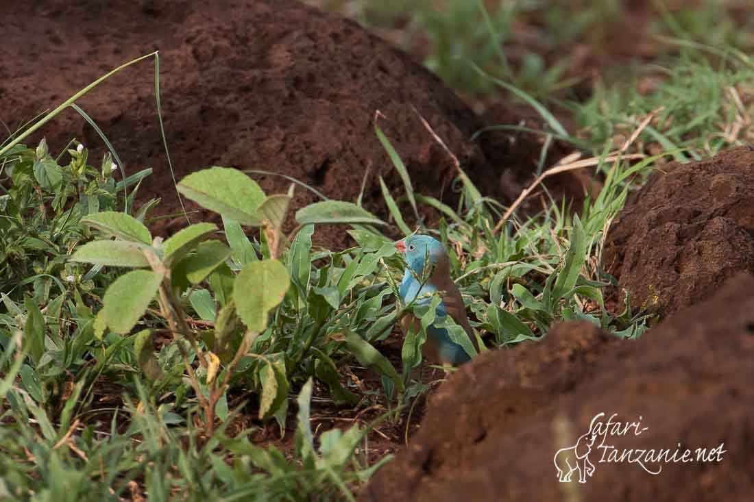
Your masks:
<svg viewBox="0 0 754 502"><path fill-rule="evenodd" d="M210 167L189 174L178 191L201 207L228 216L241 225L260 225L257 210L265 192L249 176L229 167Z"/></svg>

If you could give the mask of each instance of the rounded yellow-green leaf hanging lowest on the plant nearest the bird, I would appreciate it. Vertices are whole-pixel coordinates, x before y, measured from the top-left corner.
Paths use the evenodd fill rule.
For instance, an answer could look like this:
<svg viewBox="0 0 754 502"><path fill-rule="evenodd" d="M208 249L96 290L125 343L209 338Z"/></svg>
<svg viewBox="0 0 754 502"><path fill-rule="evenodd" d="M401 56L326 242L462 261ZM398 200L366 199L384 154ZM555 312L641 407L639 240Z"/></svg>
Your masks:
<svg viewBox="0 0 754 502"><path fill-rule="evenodd" d="M289 285L288 271L277 260L246 265L233 286L238 317L251 331L262 332L267 326L268 312L283 301Z"/></svg>

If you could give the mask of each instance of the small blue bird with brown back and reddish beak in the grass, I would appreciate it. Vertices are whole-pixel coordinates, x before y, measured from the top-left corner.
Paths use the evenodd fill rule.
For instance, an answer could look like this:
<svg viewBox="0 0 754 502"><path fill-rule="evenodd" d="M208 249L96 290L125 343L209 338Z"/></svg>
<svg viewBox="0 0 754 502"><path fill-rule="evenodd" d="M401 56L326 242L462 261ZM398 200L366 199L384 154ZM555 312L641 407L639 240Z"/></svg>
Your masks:
<svg viewBox="0 0 754 502"><path fill-rule="evenodd" d="M437 305L435 311L436 323L443 320L443 317L449 315L461 326L472 342L475 341L474 331L471 329L466 308L461 298L461 292L450 278L450 263L448 253L439 240L429 237L428 235L411 235L395 243L396 249L406 257L406 263L409 268L403 273L403 280L400 283L398 293L404 305L408 305L418 296L425 295L425 298L416 300L414 305L428 305L431 302L431 293L433 291L442 291L442 301ZM422 286L417 277L421 279L425 271L425 261L429 260L434 268L427 282ZM414 331L419 329L419 321L412 314L406 314L400 323L400 327L405 335L413 326ZM450 339L447 329L439 328L432 324L427 329L427 343L422 346L422 352L425 357L433 363L443 365L451 364L459 366L470 360L469 355L461 347ZM476 344L474 344L476 346Z"/></svg>

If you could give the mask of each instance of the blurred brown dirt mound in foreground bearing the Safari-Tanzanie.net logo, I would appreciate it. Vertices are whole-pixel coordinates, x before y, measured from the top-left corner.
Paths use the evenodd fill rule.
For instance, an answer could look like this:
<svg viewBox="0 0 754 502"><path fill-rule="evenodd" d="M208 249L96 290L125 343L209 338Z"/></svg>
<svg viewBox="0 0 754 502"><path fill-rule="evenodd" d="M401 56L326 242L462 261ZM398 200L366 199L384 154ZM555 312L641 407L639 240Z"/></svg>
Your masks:
<svg viewBox="0 0 754 502"><path fill-rule="evenodd" d="M440 387L408 448L360 500L746 500L754 488L752 289L754 277L741 274L639 341L565 323L540 344L484 354ZM575 445L600 412L603 424L617 413L612 422L640 427L600 436L592 476L559 483L556 451ZM609 445L637 458L721 443L719 462L645 461L662 468L657 475L606 461Z"/></svg>

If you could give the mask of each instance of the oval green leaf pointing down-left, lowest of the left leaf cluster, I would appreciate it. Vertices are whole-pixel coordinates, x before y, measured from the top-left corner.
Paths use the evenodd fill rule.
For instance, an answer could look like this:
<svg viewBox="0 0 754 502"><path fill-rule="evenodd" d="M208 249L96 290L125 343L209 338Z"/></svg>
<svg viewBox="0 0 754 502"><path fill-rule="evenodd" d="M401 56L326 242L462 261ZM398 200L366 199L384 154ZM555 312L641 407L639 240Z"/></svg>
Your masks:
<svg viewBox="0 0 754 502"><path fill-rule="evenodd" d="M134 270L113 281L103 298L107 326L121 335L130 332L155 298L162 277L152 271Z"/></svg>

